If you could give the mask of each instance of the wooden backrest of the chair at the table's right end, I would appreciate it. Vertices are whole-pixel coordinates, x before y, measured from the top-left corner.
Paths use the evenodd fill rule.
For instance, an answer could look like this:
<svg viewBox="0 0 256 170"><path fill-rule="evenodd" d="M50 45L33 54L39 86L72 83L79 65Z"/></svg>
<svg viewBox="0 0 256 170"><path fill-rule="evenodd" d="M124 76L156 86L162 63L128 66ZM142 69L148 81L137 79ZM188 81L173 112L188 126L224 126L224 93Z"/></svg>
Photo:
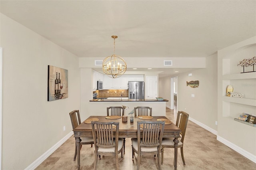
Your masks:
<svg viewBox="0 0 256 170"><path fill-rule="evenodd" d="M188 125L188 117L189 117L188 113L183 112L183 111L178 111L176 126L178 126L181 130L181 132L180 132L180 135L182 136L181 140L180 140L181 142L184 141L186 128Z"/></svg>

